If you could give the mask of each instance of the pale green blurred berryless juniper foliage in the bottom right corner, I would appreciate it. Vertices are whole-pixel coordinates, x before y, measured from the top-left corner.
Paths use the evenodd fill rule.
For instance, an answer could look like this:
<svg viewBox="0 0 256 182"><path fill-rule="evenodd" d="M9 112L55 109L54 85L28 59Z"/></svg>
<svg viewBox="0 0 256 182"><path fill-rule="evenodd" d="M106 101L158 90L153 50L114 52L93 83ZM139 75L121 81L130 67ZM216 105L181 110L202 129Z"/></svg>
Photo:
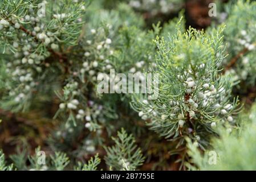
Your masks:
<svg viewBox="0 0 256 182"><path fill-rule="evenodd" d="M255 151L254 146L256 126L255 126L255 105L251 110L250 117L245 114L241 117L243 127L241 130L232 131L221 129L220 138L214 139L212 152L216 152L217 161L211 163L212 155L210 151L201 155L197 147L189 141L189 155L192 157L192 162L197 165L200 170L255 170ZM249 142L250 141L250 142ZM189 165L190 166L190 165ZM197 169L190 166L191 169Z"/></svg>

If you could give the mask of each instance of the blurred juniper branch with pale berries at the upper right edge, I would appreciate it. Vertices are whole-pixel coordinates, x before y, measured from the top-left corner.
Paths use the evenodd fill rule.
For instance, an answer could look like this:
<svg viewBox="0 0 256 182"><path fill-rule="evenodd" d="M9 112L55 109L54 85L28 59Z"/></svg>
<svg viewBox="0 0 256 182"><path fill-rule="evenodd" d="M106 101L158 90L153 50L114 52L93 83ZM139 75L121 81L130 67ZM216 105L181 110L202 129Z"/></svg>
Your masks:
<svg viewBox="0 0 256 182"><path fill-rule="evenodd" d="M241 82L240 93L255 84L255 10L256 2L238 1L230 6L225 21L224 42L229 56L223 64L227 68L226 74Z"/></svg>

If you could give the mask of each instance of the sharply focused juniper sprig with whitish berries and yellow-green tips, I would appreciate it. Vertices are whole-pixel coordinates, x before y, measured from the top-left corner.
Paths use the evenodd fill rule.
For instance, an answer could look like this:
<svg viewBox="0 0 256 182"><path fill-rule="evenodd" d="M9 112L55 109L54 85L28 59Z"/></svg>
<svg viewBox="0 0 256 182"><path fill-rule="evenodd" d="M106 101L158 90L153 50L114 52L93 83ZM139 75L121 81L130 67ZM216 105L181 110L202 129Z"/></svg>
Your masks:
<svg viewBox="0 0 256 182"><path fill-rule="evenodd" d="M225 57L222 31L206 36L193 28L186 34L177 29L169 41L156 39L159 97L135 96L132 106L152 130L176 142L174 154L184 150L185 136L204 150L216 126L236 127L238 100L230 101L233 83L218 73Z"/></svg>

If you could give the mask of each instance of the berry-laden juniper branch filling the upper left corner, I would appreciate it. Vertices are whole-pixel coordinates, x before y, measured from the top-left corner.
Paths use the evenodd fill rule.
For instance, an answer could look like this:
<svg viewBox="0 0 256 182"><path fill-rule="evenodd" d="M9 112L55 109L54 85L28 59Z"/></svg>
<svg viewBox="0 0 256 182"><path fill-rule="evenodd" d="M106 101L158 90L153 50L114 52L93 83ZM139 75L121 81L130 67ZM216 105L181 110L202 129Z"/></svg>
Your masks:
<svg viewBox="0 0 256 182"><path fill-rule="evenodd" d="M39 4L46 8L45 14ZM50 3L5 0L1 6L1 53L9 55L2 55L7 67L5 75L9 76L5 81L14 83L6 86L1 107L26 110L31 105L33 92L43 86L36 83L43 84L47 74L58 73L61 70L58 68L62 68L58 61L49 63L48 57L63 61L66 56L60 56L60 52L67 52L68 47L77 44L86 5L71 0Z"/></svg>

